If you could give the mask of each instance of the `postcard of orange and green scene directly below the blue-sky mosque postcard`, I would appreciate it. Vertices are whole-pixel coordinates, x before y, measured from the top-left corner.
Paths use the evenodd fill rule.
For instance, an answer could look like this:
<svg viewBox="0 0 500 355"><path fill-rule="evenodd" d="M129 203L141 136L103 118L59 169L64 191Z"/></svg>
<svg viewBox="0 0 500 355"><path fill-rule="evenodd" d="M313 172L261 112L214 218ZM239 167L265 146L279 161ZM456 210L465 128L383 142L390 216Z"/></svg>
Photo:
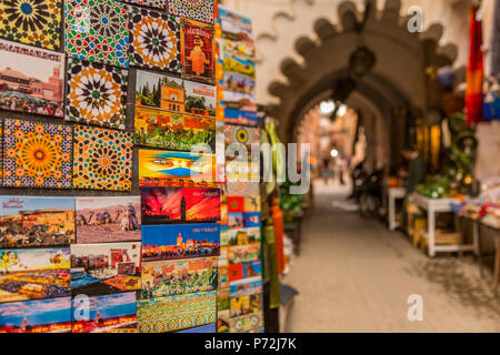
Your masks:
<svg viewBox="0 0 500 355"><path fill-rule="evenodd" d="M217 257L142 263L141 285L141 298L217 290Z"/></svg>

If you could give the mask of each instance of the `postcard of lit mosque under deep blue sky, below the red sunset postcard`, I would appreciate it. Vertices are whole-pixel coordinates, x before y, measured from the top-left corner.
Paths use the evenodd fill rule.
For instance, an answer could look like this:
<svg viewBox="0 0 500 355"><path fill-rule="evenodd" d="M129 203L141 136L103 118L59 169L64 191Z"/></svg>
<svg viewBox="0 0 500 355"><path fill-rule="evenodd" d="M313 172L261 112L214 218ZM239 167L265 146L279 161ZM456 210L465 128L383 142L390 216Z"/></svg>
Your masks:
<svg viewBox="0 0 500 355"><path fill-rule="evenodd" d="M142 227L144 262L218 256L219 252L220 227L217 223L144 225Z"/></svg>

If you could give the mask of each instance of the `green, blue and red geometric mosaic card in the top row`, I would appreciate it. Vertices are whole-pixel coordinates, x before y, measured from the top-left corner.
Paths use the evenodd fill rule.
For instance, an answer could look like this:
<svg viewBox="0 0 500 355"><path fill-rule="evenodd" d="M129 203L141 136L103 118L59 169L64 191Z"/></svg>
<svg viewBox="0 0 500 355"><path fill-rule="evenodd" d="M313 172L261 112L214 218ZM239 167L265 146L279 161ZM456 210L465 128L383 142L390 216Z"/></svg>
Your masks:
<svg viewBox="0 0 500 355"><path fill-rule="evenodd" d="M64 21L68 55L129 67L127 4L114 0L68 0Z"/></svg>

